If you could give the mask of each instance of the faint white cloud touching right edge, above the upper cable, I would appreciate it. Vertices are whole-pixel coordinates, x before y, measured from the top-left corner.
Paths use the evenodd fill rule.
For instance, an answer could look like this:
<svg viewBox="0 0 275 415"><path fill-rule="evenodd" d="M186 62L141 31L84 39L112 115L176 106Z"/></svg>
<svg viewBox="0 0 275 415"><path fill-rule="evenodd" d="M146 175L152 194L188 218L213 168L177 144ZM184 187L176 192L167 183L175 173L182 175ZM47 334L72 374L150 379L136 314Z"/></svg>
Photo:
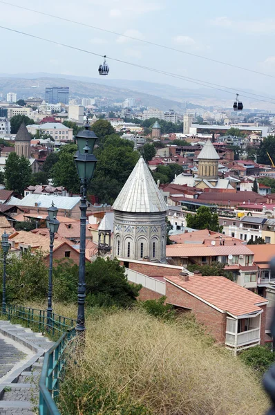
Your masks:
<svg viewBox="0 0 275 415"><path fill-rule="evenodd" d="M212 26L245 33L275 33L275 19L231 20L224 16L216 17L210 23Z"/></svg>

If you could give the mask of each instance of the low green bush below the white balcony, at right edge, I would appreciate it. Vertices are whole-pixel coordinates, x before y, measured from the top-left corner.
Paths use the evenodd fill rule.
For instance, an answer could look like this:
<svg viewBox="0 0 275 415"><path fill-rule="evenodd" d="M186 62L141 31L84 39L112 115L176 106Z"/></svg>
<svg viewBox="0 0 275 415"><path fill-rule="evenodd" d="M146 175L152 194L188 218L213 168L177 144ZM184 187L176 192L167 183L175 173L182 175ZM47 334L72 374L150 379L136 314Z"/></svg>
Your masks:
<svg viewBox="0 0 275 415"><path fill-rule="evenodd" d="M274 353L265 346L255 346L240 353L240 360L252 367L260 376L274 363Z"/></svg>

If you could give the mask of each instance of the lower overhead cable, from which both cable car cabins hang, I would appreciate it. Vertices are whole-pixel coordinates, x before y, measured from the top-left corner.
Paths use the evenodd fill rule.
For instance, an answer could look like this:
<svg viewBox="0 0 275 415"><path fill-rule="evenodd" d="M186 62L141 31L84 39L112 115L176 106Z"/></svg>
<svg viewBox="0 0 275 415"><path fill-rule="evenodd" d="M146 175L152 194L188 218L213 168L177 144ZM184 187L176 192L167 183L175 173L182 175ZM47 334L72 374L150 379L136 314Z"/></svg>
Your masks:
<svg viewBox="0 0 275 415"><path fill-rule="evenodd" d="M74 49L74 50L79 50L80 52L88 53L90 55L95 55L95 56L99 56L99 57L104 57L105 56L105 55L100 55L99 53L91 52L91 50L77 48L77 46L71 46L71 45L67 45L67 44L62 44L61 42L56 42L55 40L46 39L45 37L40 37L40 36L37 36L37 35L31 35L30 33L22 32L21 30L16 30L16 29L12 29L12 28L6 28L5 26L0 26L0 28L2 28L4 30L9 30L11 32L19 33L20 35L26 35L28 37L33 37L35 39L44 40L44 42L49 42L51 44L56 44L56 45L59 45L59 46L64 46L66 48L70 48L70 49ZM124 61L122 59L117 59L115 57L108 57L108 56L106 56L106 58L107 59L110 59L110 60L113 60L115 62L120 62L122 64L127 64L127 65L131 65L131 66L135 66L137 68L146 69L146 71L152 71L152 72L155 72L155 73L161 73L162 75L168 75L168 76L171 76L171 77L178 78L180 80L186 80L187 82L191 82L193 84L198 84L198 85L206 86L207 88L216 89L218 91L222 91L222 92L226 92L226 93L230 93L230 94L236 95L233 92L226 91L225 89L220 89L220 88L218 88L216 86L208 85L206 82L203 82L203 81L202 82L199 82L198 80L193 80L193 78L184 77L183 75L178 75L178 74L175 74L175 73L169 73L169 72L166 72L166 71L161 71L159 69L150 68L149 66L142 66L142 65L138 65L138 64L133 64L131 62L126 62L126 61ZM227 87L225 86L225 88L227 88ZM234 91L236 91L236 89L234 89ZM253 100L256 100L256 101L267 102L268 104L274 104L274 102L270 102L270 101L267 101L267 100L259 100L258 98L249 97L247 95L243 95L242 94L242 96L245 97L245 98L249 98L250 100L253 99ZM275 98L270 98L270 99L275 100Z"/></svg>

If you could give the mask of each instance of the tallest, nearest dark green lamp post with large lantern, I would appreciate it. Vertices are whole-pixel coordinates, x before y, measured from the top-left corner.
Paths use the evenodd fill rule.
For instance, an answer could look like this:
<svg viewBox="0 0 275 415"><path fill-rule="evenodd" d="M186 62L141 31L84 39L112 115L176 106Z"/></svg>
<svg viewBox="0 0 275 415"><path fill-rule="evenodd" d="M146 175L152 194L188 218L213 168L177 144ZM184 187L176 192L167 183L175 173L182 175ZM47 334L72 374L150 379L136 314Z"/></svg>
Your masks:
<svg viewBox="0 0 275 415"><path fill-rule="evenodd" d="M83 333L85 330L85 247L86 247L86 194L88 182L93 177L95 171L95 164L97 159L93 155L93 147L97 136L93 131L89 130L90 124L88 121L85 124L85 129L79 131L77 134L77 153L75 154L75 164L77 166L77 173L81 181L81 204L80 204L80 246L79 246L79 277L77 288L77 333Z"/></svg>

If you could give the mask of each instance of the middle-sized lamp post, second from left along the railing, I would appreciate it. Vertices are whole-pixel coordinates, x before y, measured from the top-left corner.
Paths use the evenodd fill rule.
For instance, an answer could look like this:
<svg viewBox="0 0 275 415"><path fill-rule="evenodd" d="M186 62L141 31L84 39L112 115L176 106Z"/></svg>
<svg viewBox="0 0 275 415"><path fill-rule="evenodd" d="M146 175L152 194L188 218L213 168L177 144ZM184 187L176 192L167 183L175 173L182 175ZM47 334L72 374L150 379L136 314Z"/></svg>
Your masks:
<svg viewBox="0 0 275 415"><path fill-rule="evenodd" d="M47 308L47 327L50 329L51 318L53 313L52 299L53 299L53 241L55 234L59 228L59 221L57 221L58 209L52 203L48 208L48 216L46 217L46 225L50 232L50 266L48 268L48 308Z"/></svg>

